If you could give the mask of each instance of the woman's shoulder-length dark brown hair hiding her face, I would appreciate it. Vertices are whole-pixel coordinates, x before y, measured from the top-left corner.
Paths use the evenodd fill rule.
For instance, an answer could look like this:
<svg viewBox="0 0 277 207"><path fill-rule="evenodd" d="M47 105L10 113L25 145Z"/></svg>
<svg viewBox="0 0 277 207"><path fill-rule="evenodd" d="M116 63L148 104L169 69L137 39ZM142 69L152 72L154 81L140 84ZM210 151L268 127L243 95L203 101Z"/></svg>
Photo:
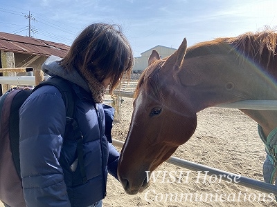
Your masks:
<svg viewBox="0 0 277 207"><path fill-rule="evenodd" d="M66 70L88 70L100 82L110 77L110 94L123 75L129 80L133 63L132 48L120 26L107 23L93 23L82 30L60 61Z"/></svg>

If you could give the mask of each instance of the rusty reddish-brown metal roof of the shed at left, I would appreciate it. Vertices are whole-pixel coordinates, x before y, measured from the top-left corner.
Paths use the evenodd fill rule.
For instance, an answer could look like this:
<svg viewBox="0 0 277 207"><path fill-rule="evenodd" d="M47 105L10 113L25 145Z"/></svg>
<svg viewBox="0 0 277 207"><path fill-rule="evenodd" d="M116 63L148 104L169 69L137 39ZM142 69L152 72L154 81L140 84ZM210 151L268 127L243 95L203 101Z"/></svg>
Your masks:
<svg viewBox="0 0 277 207"><path fill-rule="evenodd" d="M69 46L62 43L0 32L0 50L6 52L17 52L47 57L50 55L64 57L69 48Z"/></svg>

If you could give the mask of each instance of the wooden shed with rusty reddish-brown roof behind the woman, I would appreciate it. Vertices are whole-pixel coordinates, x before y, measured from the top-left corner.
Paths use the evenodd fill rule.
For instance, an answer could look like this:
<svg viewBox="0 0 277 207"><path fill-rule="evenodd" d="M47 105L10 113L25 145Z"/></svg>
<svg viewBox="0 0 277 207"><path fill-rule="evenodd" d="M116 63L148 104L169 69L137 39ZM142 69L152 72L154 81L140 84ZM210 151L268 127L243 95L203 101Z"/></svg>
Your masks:
<svg viewBox="0 0 277 207"><path fill-rule="evenodd" d="M24 37L17 34L0 32L0 68L30 68L41 70L42 63L50 55L64 57L69 46L62 43ZM4 72L0 76L31 75L30 72ZM15 69L12 69L15 71ZM6 92L12 85L0 84L0 95Z"/></svg>

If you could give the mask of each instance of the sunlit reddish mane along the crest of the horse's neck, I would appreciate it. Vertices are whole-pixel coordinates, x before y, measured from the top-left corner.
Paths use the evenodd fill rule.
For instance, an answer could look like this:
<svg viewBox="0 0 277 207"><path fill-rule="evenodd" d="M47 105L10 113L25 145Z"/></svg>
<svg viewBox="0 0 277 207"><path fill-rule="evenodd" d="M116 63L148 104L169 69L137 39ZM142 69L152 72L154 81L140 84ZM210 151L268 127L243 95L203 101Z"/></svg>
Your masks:
<svg viewBox="0 0 277 207"><path fill-rule="evenodd" d="M204 41L188 48L186 57L197 57L201 55L224 54L236 52L237 57L250 58L255 61L266 57L266 66L271 58L277 55L277 33L275 30L265 28L261 32L246 32L238 37L220 37L213 41Z"/></svg>

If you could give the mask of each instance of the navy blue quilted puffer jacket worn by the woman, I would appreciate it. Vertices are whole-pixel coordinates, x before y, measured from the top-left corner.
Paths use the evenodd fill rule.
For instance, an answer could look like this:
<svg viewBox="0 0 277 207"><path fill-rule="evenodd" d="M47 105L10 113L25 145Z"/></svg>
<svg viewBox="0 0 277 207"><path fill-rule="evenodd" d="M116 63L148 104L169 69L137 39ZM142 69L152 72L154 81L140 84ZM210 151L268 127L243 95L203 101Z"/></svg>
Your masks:
<svg viewBox="0 0 277 207"><path fill-rule="evenodd" d="M110 131L113 110L94 107L89 92L72 83L75 119L83 135L87 182L78 183L79 168L70 166L77 158L73 137L64 138L66 110L62 95L54 86L33 92L19 110L20 165L27 206L89 206L106 194L107 171L116 177L119 153L105 136ZM96 111L100 115L100 126ZM109 126L105 126L105 119Z"/></svg>

